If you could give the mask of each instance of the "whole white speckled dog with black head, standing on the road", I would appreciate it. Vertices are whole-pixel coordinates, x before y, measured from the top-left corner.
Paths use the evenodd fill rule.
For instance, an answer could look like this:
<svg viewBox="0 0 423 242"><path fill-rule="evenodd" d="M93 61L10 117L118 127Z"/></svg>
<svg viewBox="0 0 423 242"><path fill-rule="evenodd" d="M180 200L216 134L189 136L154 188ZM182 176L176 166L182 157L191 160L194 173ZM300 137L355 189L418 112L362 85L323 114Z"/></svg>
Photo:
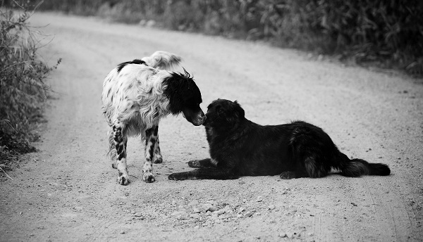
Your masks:
<svg viewBox="0 0 423 242"><path fill-rule="evenodd" d="M190 74L171 72L180 57L157 51L141 60L119 64L104 79L102 110L109 124L109 155L118 170L118 183L130 182L126 165L128 136L145 142L142 179L153 182L152 163L161 163L159 120L168 114L183 114L192 125L205 120L200 108L202 97Z"/></svg>

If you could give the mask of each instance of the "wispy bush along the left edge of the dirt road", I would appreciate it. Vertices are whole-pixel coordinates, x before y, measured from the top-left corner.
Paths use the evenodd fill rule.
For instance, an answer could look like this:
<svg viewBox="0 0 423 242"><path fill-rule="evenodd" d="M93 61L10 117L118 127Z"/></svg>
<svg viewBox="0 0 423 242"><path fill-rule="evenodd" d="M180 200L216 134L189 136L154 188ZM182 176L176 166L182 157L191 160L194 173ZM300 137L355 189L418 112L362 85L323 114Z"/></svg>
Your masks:
<svg viewBox="0 0 423 242"><path fill-rule="evenodd" d="M47 66L37 55L42 46L39 31L28 25L29 3L14 1L10 4L14 10L0 4L0 177L4 177L20 154L35 151L31 142L38 139L34 131L50 91L45 79L56 65Z"/></svg>

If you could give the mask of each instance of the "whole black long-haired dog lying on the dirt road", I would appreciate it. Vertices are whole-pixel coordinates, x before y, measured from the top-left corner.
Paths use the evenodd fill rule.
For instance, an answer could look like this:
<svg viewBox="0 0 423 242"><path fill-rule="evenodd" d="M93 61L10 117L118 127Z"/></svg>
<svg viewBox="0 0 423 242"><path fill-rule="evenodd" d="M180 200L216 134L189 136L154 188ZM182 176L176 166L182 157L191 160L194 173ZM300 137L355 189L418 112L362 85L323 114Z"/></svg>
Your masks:
<svg viewBox="0 0 423 242"><path fill-rule="evenodd" d="M279 174L282 179L325 177L331 168L345 177L387 176L388 165L352 159L338 150L321 128L295 121L285 125L257 125L245 118L237 101L217 99L206 121L210 158L191 160L200 169L169 175L171 180L237 179Z"/></svg>

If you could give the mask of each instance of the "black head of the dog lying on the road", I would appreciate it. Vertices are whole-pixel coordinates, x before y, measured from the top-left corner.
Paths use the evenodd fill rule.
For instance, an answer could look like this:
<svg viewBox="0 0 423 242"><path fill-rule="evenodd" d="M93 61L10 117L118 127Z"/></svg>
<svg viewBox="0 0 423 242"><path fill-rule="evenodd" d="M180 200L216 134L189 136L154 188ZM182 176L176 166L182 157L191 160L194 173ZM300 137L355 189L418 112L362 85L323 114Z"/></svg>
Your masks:
<svg viewBox="0 0 423 242"><path fill-rule="evenodd" d="M243 120L245 112L237 101L217 99L207 107L206 127L231 128Z"/></svg>

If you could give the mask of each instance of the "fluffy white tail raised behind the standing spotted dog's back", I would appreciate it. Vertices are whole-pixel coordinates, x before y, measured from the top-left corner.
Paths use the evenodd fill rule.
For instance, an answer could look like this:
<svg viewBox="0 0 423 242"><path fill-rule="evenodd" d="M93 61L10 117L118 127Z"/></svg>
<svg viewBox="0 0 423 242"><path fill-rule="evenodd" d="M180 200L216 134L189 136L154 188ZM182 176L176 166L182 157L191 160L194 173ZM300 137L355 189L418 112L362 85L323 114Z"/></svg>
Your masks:
<svg viewBox="0 0 423 242"><path fill-rule="evenodd" d="M156 51L151 56L143 57L142 60L152 68L159 68L161 70L173 70L178 67L182 58L174 53L166 51Z"/></svg>

